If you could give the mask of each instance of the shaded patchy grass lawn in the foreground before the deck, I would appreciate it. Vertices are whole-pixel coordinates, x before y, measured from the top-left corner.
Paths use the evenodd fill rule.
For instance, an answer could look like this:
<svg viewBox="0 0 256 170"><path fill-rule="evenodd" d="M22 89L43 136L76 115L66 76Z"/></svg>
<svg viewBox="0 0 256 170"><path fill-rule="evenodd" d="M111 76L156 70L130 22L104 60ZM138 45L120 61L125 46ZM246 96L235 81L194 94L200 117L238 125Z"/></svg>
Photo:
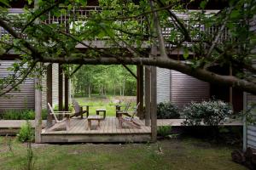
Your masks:
<svg viewBox="0 0 256 170"><path fill-rule="evenodd" d="M157 144L32 144L34 169L49 170L242 170L230 147L199 139L161 140ZM0 169L24 169L26 144L13 140L13 153L0 137ZM162 150L162 152L160 152Z"/></svg>

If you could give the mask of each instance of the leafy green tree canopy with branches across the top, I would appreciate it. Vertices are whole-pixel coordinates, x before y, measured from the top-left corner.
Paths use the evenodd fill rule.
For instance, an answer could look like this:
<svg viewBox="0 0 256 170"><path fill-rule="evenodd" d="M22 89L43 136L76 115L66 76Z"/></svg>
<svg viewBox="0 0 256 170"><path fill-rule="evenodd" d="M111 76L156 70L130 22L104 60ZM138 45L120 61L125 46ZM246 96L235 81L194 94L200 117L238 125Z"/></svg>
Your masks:
<svg viewBox="0 0 256 170"><path fill-rule="evenodd" d="M192 0L181 2L99 0L89 7L84 0L29 0L34 8L10 14L9 2L0 0L1 58L20 59L14 75L0 80L0 95L42 75L45 63L156 65L256 94L256 2L230 0L218 12L205 10L207 1L198 11L186 8ZM218 67L232 75L212 71Z"/></svg>

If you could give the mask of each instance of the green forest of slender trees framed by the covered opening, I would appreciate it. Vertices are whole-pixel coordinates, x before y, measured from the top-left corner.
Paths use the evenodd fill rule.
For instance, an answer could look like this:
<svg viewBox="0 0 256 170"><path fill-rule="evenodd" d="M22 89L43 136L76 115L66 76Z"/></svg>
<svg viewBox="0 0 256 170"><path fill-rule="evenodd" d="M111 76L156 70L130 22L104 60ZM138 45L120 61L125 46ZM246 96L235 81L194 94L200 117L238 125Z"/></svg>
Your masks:
<svg viewBox="0 0 256 170"><path fill-rule="evenodd" d="M128 66L136 73L136 66ZM72 78L74 97L136 95L137 81L122 65L83 65Z"/></svg>

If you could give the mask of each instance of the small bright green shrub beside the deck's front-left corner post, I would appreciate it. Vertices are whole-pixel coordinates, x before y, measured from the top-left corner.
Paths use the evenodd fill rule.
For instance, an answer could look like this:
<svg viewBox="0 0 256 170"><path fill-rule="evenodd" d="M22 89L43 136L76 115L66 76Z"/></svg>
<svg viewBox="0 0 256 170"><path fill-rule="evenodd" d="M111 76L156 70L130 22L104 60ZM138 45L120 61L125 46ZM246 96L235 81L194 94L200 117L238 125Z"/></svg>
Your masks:
<svg viewBox="0 0 256 170"><path fill-rule="evenodd" d="M17 134L20 142L32 142L34 139L34 130L32 129L31 122L26 122L20 127L20 132Z"/></svg>

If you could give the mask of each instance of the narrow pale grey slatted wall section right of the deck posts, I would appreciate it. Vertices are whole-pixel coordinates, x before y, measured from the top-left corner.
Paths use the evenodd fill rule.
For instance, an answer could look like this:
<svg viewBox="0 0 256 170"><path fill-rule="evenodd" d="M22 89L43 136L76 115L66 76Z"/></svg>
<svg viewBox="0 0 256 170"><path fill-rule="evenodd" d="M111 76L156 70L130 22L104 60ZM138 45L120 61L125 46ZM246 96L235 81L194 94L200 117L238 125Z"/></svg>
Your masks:
<svg viewBox="0 0 256 170"><path fill-rule="evenodd" d="M157 103L170 101L171 71L157 67Z"/></svg>

